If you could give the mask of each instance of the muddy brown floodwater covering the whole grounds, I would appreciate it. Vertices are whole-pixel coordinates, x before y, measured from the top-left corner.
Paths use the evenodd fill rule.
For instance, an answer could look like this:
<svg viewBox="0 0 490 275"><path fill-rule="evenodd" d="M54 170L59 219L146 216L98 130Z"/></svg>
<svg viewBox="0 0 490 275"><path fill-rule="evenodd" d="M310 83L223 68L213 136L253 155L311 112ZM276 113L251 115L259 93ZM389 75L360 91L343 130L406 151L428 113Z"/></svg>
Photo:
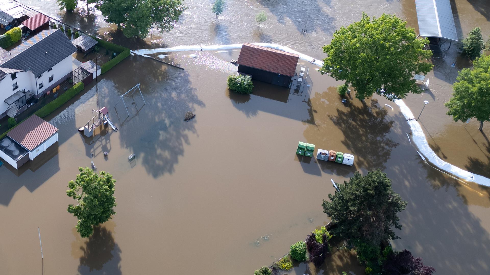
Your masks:
<svg viewBox="0 0 490 275"><path fill-rule="evenodd" d="M175 29L154 30L150 44L149 37L121 37L94 11L88 17L83 11L66 15L54 0L21 2L132 49L267 42L322 58L321 46L335 29L359 20L362 11L395 13L417 31L413 0L227 1L219 19L210 11L211 0L186 0L189 9ZM485 0L452 4L460 38L474 26L482 27L485 39L490 35ZM269 19L257 28L253 17L261 10ZM305 26L308 33L301 34ZM435 59L430 92L409 95L405 102L418 115L423 100L430 101L420 123L443 160L489 177L490 124L482 134L478 122L464 128L445 115L443 103L457 70L469 66L455 49L453 43L443 59ZM342 182L356 170L366 174L376 168L408 201L400 214L403 229L396 230L401 239L392 241L395 249L411 250L437 274L490 273L489 188L423 162L395 104L374 97L344 105L335 91L341 82L304 61L310 67L308 92L298 96L257 82L252 95L240 95L226 88L227 75L236 72L229 60L238 57L238 49L152 56L160 54L185 70L130 56L46 118L60 129L57 147L20 171L0 167L0 274L42 273L37 227L45 274L252 274L328 222L321 202L334 191L330 179ZM128 116L119 95L137 83L146 104L138 93L125 97ZM120 131L105 128L84 138L77 129L92 109L103 106ZM187 111L196 117L185 122ZM294 154L298 141L352 153L354 166L300 159ZM112 220L82 239L66 210L73 199L65 191L77 167L90 166L91 154L98 171L117 180L118 206ZM131 154L133 164L127 160ZM363 274L352 257L331 259L319 274Z"/></svg>

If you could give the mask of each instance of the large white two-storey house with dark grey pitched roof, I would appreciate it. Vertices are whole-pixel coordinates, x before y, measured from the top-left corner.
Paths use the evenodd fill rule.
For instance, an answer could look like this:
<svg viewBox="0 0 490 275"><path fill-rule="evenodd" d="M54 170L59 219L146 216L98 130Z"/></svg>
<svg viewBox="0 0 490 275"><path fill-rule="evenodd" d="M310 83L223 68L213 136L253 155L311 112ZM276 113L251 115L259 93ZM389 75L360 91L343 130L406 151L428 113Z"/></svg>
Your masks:
<svg viewBox="0 0 490 275"><path fill-rule="evenodd" d="M0 48L0 118L22 113L32 98L57 92L70 77L75 51L60 29L43 30L10 51Z"/></svg>

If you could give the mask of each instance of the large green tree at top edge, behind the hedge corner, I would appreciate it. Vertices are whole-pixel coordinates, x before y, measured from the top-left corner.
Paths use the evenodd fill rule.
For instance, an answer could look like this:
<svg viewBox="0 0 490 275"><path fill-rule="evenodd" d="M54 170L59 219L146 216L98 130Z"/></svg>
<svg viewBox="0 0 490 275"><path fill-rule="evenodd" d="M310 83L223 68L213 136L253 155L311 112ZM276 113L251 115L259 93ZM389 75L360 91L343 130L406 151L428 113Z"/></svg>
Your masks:
<svg viewBox="0 0 490 275"><path fill-rule="evenodd" d="M103 0L96 7L126 37L147 36L151 26L170 31L186 10L183 0Z"/></svg>

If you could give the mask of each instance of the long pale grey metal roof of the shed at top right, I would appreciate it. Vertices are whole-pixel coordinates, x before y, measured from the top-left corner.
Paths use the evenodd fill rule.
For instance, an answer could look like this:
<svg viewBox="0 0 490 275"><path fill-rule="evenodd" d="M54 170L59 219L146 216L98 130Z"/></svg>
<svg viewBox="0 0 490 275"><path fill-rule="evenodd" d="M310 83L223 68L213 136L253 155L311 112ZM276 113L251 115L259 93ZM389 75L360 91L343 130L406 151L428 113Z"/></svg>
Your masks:
<svg viewBox="0 0 490 275"><path fill-rule="evenodd" d="M415 0L420 36L458 41L449 0Z"/></svg>

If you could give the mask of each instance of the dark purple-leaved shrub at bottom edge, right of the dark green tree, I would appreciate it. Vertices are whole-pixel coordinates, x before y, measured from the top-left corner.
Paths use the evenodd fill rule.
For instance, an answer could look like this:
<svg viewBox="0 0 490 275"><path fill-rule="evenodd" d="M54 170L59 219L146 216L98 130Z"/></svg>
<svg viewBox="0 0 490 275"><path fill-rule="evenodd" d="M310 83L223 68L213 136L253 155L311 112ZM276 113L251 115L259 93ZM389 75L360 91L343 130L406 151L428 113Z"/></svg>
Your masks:
<svg viewBox="0 0 490 275"><path fill-rule="evenodd" d="M433 267L425 266L422 258L414 257L406 249L394 252L388 256L383 264L384 275L432 275L436 270Z"/></svg>

